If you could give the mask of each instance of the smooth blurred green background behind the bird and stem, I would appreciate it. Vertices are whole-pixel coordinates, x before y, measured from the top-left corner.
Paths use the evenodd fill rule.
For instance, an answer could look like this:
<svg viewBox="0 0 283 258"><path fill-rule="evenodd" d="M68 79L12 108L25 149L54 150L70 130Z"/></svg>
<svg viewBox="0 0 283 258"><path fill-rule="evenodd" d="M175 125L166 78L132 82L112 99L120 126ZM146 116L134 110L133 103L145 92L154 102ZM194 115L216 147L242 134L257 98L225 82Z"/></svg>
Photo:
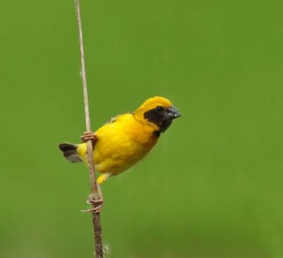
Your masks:
<svg viewBox="0 0 283 258"><path fill-rule="evenodd" d="M166 96L182 113L103 184L109 257L283 257L282 1L82 1L93 130ZM92 257L74 1L0 9L0 257Z"/></svg>

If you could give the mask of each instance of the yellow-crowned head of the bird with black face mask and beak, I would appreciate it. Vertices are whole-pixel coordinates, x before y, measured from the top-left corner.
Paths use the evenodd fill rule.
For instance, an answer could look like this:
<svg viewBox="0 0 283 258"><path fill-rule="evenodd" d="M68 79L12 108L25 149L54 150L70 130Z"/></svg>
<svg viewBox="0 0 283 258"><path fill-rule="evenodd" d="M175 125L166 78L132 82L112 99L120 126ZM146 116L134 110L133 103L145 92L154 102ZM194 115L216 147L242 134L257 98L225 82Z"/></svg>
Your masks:
<svg viewBox="0 0 283 258"><path fill-rule="evenodd" d="M171 125L172 120L180 117L180 113L171 101L161 96L146 99L144 103L134 111L134 116L141 123L154 128L154 135L159 136Z"/></svg>

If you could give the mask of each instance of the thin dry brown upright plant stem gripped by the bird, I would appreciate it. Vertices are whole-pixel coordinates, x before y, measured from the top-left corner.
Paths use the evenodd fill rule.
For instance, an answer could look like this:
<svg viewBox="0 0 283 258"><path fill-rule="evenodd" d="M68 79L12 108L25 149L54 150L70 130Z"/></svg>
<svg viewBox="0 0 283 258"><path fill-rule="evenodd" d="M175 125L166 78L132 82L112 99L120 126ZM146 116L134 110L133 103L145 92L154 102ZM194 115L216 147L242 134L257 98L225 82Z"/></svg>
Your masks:
<svg viewBox="0 0 283 258"><path fill-rule="evenodd" d="M76 18L79 26L79 43L81 49L81 79L83 81L83 99L84 99L84 108L86 113L86 131L91 132L91 120L89 117L88 110L88 90L86 84L86 65L84 61L84 50L83 50L83 32L81 29L81 11L79 6L79 0L75 0L76 6ZM101 201L101 189L98 184L96 184L96 174L94 172L93 164L93 145L91 140L87 142L87 155L88 155L88 170L91 176L91 195L96 199L96 201ZM95 208L95 204L93 204ZM103 244L101 237L101 222L100 222L100 213L92 213L93 219L93 232L94 232L94 246L96 258L103 258Z"/></svg>

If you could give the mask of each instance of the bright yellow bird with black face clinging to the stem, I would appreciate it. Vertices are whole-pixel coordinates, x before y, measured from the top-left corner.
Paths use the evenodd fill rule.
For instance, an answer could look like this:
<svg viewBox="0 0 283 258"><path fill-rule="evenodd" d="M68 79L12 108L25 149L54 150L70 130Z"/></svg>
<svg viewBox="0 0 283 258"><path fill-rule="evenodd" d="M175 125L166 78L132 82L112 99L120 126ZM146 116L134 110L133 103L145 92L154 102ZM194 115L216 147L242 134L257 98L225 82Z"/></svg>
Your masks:
<svg viewBox="0 0 283 258"><path fill-rule="evenodd" d="M161 96L147 99L132 113L112 118L96 133L85 133L78 145L64 142L59 145L70 162L87 163L86 141L93 141L93 160L96 172L101 173L98 184L116 176L146 156L159 136L180 117L171 101Z"/></svg>

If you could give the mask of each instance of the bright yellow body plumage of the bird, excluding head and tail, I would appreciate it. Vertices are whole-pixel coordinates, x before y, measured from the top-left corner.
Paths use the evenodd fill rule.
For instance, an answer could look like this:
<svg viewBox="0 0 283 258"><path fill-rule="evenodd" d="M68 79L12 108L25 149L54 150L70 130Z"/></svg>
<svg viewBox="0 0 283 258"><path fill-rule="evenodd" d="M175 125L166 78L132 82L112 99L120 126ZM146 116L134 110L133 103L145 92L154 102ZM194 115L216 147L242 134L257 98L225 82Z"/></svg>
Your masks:
<svg viewBox="0 0 283 258"><path fill-rule="evenodd" d="M141 125L132 114L103 125L96 131L98 142L93 150L96 171L114 176L132 167L156 144L158 138L152 133L151 127ZM80 144L77 151L86 162L86 143Z"/></svg>

